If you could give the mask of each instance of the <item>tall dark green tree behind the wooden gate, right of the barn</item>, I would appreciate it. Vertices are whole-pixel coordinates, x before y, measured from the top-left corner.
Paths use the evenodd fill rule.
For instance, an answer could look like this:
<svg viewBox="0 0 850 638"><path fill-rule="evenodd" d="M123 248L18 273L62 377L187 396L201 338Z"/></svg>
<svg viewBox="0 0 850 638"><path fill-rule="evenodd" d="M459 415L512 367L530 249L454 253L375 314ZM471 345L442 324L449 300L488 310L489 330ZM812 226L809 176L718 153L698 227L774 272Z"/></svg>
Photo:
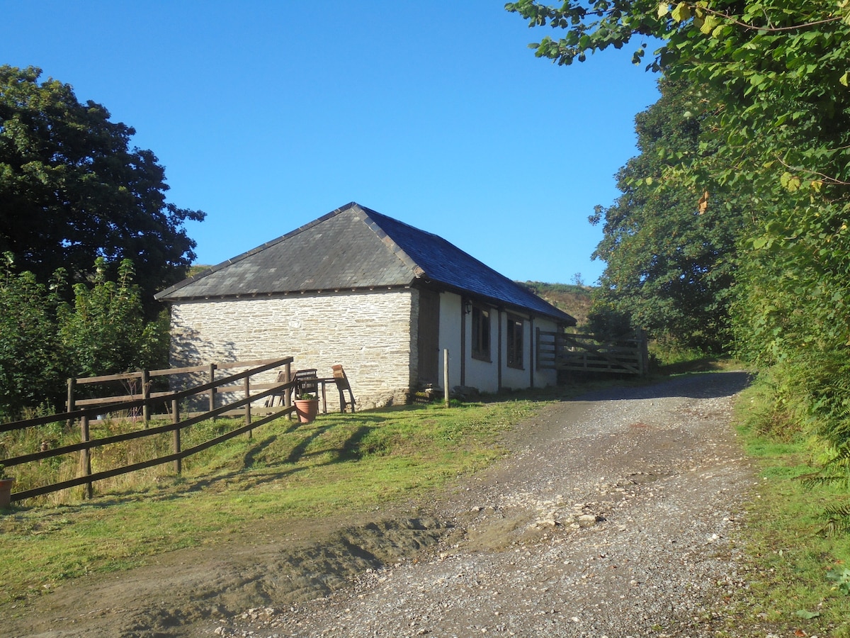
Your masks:
<svg viewBox="0 0 850 638"><path fill-rule="evenodd" d="M716 185L700 196L666 183L665 171L680 157L700 151L702 117L694 102L705 92L683 81L662 79L661 97L635 117L640 154L617 174L623 193L590 221L604 219L604 236L593 253L604 259L594 305L599 314L630 316L634 328L677 345L720 351L731 342L728 306L741 208ZM675 152L670 152L675 151Z"/></svg>

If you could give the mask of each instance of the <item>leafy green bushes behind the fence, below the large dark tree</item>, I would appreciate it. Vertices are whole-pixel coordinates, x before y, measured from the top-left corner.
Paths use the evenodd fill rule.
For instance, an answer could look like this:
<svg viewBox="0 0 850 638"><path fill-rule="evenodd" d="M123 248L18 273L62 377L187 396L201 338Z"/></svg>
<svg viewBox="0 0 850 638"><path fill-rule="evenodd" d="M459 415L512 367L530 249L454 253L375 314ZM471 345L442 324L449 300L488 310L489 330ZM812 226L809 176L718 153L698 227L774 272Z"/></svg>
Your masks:
<svg viewBox="0 0 850 638"><path fill-rule="evenodd" d="M27 407L59 407L65 380L167 367L168 316L145 321L133 263L118 279L103 258L89 284L78 283L74 302L63 297L64 271L48 287L31 271L16 272L11 253L0 265L0 421Z"/></svg>

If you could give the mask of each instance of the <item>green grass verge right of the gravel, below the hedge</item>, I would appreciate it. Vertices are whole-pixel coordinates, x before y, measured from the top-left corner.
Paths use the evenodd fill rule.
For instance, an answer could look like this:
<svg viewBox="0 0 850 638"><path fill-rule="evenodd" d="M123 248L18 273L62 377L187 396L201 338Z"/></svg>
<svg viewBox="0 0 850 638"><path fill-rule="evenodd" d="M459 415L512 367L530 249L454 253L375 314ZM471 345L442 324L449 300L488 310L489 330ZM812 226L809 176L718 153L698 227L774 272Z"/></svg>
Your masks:
<svg viewBox="0 0 850 638"><path fill-rule="evenodd" d="M821 451L800 429L776 436L773 424L764 427L760 419L773 410L762 401L754 388L739 402L741 440L761 481L747 506L750 589L735 601L735 622L770 624L779 635L850 638L850 595L839 582L850 568L850 537L824 533L823 516L828 506L850 504L850 494L802 480L818 469Z"/></svg>

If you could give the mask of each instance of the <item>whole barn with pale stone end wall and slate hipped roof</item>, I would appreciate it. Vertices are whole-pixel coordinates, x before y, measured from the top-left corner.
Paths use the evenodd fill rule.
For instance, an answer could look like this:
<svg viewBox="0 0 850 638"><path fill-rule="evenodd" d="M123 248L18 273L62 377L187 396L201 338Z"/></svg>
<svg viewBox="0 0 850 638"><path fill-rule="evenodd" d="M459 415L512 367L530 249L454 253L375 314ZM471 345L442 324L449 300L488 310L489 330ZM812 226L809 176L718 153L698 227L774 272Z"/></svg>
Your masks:
<svg viewBox="0 0 850 638"><path fill-rule="evenodd" d="M484 392L554 385L535 329L575 325L450 242L351 202L156 295L171 307L172 364L293 356L358 407L443 385ZM328 393L336 402L337 393Z"/></svg>

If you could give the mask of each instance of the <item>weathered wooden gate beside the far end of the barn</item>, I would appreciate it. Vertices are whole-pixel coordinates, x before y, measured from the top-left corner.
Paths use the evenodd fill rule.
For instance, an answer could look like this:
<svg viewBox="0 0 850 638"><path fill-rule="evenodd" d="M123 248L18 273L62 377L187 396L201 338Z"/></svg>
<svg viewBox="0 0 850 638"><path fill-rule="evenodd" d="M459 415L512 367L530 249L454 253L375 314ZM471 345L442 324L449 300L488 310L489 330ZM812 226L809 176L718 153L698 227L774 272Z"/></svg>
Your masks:
<svg viewBox="0 0 850 638"><path fill-rule="evenodd" d="M592 334L568 334L537 329L537 368L617 374L646 374L649 354L646 333L616 341L599 341Z"/></svg>

